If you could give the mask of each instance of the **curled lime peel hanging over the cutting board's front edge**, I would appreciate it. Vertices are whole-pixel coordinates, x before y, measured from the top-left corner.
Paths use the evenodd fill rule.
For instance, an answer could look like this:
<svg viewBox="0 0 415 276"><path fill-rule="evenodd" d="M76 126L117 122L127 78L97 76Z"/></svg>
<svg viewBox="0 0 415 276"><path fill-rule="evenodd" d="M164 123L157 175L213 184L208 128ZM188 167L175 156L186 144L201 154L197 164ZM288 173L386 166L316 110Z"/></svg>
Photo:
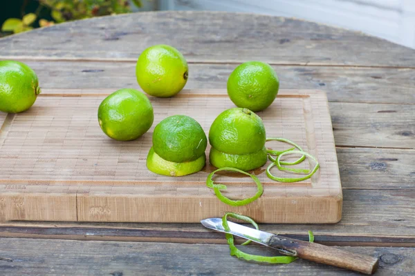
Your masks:
<svg viewBox="0 0 415 276"><path fill-rule="evenodd" d="M226 188L228 187L224 184L214 184L214 181L212 180L213 175L216 172L220 172L222 170L240 172L243 175L249 175L255 181L255 184L257 184L257 193L253 197L249 197L247 199L240 199L240 200L233 200L233 199L229 199L228 197L225 197L224 195L222 195L221 190L226 190ZM206 186L208 186L208 188L213 188L214 194L216 195L216 197L218 197L218 199L222 201L223 203L228 204L230 206L243 206L246 204L250 204L252 201L255 201L256 199L258 199L258 197L261 197L262 193L264 192L264 188L262 187L261 181L259 181L259 179L255 175L250 175L248 172L244 172L243 170L239 170L237 168L229 168L229 167L219 168L217 170L214 170L213 172L210 172L210 174L208 175L208 179L206 179Z"/></svg>

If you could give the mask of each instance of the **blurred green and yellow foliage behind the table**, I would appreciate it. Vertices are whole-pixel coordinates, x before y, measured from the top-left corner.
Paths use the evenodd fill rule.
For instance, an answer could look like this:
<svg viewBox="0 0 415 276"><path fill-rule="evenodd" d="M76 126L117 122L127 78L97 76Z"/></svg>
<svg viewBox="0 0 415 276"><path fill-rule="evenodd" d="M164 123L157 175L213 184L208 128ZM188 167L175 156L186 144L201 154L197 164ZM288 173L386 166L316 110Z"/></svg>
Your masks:
<svg viewBox="0 0 415 276"><path fill-rule="evenodd" d="M22 3L22 11L26 10L25 6L28 2L25 0ZM38 0L37 2L35 12L24 14L21 19L9 18L4 21L1 32L6 34L26 32L32 30L34 26L47 27L65 21L131 12L127 0ZM142 6L141 0L131 2L138 8ZM46 16L44 10L47 10Z"/></svg>

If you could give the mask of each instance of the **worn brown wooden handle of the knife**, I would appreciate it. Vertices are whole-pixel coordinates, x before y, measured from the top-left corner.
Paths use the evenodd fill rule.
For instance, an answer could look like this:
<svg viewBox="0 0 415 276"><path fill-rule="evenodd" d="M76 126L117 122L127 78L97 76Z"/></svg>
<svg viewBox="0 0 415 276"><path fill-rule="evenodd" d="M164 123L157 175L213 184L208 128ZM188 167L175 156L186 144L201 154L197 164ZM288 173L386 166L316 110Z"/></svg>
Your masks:
<svg viewBox="0 0 415 276"><path fill-rule="evenodd" d="M320 264L329 264L371 275L378 269L378 258L351 253L331 246L290 239L279 235L270 237L268 246L285 255L308 259Z"/></svg>

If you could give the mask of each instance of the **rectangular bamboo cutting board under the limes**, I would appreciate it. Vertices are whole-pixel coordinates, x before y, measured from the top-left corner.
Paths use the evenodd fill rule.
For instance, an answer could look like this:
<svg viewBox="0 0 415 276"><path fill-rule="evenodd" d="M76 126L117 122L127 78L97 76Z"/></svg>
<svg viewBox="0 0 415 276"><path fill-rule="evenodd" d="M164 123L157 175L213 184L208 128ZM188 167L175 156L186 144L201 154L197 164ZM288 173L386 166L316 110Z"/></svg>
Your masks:
<svg viewBox="0 0 415 276"><path fill-rule="evenodd" d="M317 157L311 179L283 184L266 177L268 163L254 171L264 194L247 206L223 204L205 186L214 168L165 177L145 166L156 124L181 114L199 121L208 135L223 110L234 107L225 90L183 90L169 99L150 97L154 124L136 141L114 141L98 125L98 106L113 90L44 90L30 110L0 112L0 221L199 222L233 211L261 223L335 223L342 214L342 188L326 95L317 90L281 90L257 114L267 137L284 137ZM268 142L273 149L286 144ZM206 150L208 155L210 147ZM300 166L308 168L304 161ZM273 168L275 175L281 174ZM224 173L232 199L250 197L250 177Z"/></svg>

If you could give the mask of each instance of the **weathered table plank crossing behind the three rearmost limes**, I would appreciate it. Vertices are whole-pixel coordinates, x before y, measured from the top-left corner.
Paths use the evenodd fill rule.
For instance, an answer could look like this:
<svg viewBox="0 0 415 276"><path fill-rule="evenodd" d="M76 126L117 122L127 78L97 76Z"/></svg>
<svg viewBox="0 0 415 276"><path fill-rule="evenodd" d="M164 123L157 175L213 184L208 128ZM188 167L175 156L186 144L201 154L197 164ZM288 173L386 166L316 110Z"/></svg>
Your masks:
<svg viewBox="0 0 415 276"><path fill-rule="evenodd" d="M136 62L33 61L43 88L139 88ZM237 64L190 63L186 89L226 88ZM320 89L329 101L415 104L415 70L273 66L282 89Z"/></svg>

